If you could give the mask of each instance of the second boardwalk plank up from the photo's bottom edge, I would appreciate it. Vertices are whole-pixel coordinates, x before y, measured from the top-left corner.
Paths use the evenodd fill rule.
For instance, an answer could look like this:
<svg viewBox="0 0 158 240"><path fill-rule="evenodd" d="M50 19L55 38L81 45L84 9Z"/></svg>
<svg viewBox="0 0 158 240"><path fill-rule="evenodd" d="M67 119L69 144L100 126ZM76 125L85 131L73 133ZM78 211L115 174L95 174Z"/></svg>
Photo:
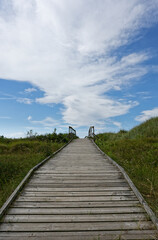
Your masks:
<svg viewBox="0 0 158 240"><path fill-rule="evenodd" d="M0 231L105 231L105 230L132 230L154 229L154 225L148 221L140 222L78 222L78 223L3 223Z"/></svg>

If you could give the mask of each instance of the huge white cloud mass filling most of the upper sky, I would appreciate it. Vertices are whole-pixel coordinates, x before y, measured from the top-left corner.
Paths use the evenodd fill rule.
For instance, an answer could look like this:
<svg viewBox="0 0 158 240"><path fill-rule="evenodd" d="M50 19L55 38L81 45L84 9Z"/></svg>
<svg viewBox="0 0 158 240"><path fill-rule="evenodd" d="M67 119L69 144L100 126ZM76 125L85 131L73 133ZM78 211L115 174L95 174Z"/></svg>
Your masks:
<svg viewBox="0 0 158 240"><path fill-rule="evenodd" d="M114 51L153 23L157 0L8 0L1 5L0 78L38 87L45 94L36 102L62 103L69 124L95 124L135 106L106 93L144 76L148 67L142 63L151 56L117 57Z"/></svg>

